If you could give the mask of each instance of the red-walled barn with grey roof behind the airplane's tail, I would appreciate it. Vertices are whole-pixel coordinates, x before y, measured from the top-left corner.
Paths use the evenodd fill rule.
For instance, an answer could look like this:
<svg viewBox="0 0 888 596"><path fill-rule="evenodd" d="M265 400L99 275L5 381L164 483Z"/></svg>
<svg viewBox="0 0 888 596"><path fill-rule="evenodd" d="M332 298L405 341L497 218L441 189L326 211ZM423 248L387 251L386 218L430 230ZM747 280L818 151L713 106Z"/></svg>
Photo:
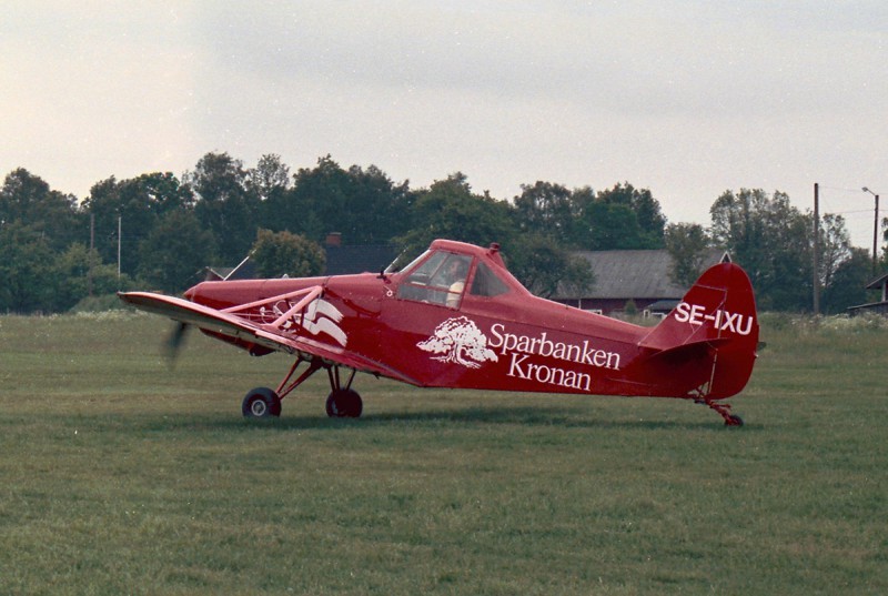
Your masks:
<svg viewBox="0 0 888 596"><path fill-rule="evenodd" d="M619 314L632 302L639 313L663 315L672 311L688 287L672 280L673 257L665 250L579 251L588 261L595 284L583 295L559 291L553 300L601 314ZM718 263L725 253L709 251L703 269Z"/></svg>

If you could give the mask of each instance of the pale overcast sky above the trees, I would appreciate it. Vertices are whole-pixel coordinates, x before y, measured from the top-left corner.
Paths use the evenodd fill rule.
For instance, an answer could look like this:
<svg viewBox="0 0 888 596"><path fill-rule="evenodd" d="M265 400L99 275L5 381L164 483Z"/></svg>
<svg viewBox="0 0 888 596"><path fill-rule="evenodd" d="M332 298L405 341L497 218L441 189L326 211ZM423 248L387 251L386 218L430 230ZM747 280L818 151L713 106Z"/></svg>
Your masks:
<svg viewBox="0 0 888 596"><path fill-rule="evenodd" d="M210 151L497 199L628 181L705 225L725 190L805 210L819 182L871 248L860 189L888 198L885 0L13 0L0 55L0 175L80 199Z"/></svg>

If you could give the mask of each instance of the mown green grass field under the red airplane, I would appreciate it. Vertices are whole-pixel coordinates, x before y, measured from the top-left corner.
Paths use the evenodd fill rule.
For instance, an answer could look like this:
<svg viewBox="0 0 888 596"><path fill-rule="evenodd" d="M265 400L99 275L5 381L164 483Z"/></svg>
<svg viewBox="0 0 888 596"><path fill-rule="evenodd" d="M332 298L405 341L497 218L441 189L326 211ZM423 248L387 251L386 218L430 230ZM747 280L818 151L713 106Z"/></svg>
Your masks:
<svg viewBox="0 0 888 596"><path fill-rule="evenodd" d="M888 326L766 317L746 426L317 375L163 320L0 317L0 594L887 594Z"/></svg>

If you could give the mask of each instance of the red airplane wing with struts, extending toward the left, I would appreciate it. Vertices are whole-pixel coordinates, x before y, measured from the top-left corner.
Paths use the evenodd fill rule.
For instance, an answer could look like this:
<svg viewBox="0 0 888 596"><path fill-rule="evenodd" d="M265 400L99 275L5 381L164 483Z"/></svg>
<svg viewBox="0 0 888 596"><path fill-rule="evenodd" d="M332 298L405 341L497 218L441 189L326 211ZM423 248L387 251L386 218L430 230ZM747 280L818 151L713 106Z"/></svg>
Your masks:
<svg viewBox="0 0 888 596"><path fill-rule="evenodd" d="M179 321L188 325L194 325L211 336L230 339L244 344L255 344L275 352L301 354L306 357L316 356L356 371L387 376L413 385L418 384L416 380L404 375L400 371L385 366L361 354L355 354L340 345L333 345L311 337L283 332L282 323L285 317L289 319L291 314L305 309L307 303L320 294L320 287L302 291L302 294L306 294L305 297L300 301L296 306L271 324L261 324L255 321L250 321L245 315L236 314L236 307L219 311L188 300L163 294L123 292L119 293L118 296L127 304L141 311L168 316L173 321ZM281 296L275 296L274 299L270 299L270 301L278 300L279 297Z"/></svg>

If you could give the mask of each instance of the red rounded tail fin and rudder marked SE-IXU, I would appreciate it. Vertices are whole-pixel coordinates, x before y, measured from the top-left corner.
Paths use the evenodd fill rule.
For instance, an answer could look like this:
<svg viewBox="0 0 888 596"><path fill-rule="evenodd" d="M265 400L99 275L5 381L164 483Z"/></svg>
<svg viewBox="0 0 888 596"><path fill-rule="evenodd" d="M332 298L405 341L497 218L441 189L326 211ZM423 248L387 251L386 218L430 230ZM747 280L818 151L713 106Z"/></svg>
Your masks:
<svg viewBox="0 0 888 596"><path fill-rule="evenodd" d="M708 376L702 390L707 400L743 391L753 374L757 345L753 284L734 263L719 263L704 272L673 312L640 342L657 355L702 357L695 368L705 370Z"/></svg>

